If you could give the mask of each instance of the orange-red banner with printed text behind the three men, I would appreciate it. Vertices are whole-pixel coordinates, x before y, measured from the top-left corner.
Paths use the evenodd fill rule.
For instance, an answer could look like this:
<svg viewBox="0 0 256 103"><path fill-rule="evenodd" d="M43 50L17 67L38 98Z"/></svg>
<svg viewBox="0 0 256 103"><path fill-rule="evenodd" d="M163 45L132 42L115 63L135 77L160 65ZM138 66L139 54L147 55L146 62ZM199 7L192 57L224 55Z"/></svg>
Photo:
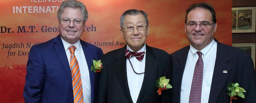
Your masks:
<svg viewBox="0 0 256 103"><path fill-rule="evenodd" d="M24 103L26 63L32 45L58 35L57 9L63 0L1 0L0 102ZM81 0L89 13L82 40L104 53L123 47L120 16L129 9L148 14L146 43L172 53L189 45L184 21L187 7L207 2L216 11L219 42L231 45L231 0ZM221 3L220 3L221 2Z"/></svg>

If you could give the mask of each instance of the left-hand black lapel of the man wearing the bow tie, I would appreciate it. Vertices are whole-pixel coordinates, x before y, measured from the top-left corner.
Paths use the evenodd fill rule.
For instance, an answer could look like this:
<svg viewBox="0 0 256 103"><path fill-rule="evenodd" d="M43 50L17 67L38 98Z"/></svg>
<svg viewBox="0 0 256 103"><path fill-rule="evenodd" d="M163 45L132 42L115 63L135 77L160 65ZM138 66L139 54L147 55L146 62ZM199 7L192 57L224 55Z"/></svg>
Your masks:
<svg viewBox="0 0 256 103"><path fill-rule="evenodd" d="M125 96L128 99L128 101L132 103L128 81L127 81L125 49L126 49L126 46L121 48L119 53L116 55L114 60L114 66L115 66L117 78L119 80L121 87L123 88Z"/></svg>

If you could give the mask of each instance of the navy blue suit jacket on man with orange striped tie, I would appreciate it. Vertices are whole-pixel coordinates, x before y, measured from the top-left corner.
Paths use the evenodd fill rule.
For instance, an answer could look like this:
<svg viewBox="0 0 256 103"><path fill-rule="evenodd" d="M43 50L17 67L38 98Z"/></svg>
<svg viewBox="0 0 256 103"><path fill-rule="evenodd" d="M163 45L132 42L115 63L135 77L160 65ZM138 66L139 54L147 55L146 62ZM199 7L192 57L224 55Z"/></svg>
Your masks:
<svg viewBox="0 0 256 103"><path fill-rule="evenodd" d="M102 50L80 40L88 69L93 59L102 59ZM91 101L97 103L99 73L89 71ZM67 55L57 37L31 47L27 63L25 103L73 103L72 76Z"/></svg>

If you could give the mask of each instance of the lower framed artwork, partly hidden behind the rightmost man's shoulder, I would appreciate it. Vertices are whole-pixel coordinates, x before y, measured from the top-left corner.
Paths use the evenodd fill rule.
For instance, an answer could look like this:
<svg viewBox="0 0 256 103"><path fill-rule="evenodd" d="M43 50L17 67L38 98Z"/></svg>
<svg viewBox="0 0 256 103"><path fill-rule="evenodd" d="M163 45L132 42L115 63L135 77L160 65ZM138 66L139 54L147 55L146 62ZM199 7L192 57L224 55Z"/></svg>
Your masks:
<svg viewBox="0 0 256 103"><path fill-rule="evenodd" d="M252 59L253 59L253 64L254 64L254 69L255 67L255 48L256 48L256 43L232 43L233 47L237 47L239 49L242 49L244 52L251 54Z"/></svg>

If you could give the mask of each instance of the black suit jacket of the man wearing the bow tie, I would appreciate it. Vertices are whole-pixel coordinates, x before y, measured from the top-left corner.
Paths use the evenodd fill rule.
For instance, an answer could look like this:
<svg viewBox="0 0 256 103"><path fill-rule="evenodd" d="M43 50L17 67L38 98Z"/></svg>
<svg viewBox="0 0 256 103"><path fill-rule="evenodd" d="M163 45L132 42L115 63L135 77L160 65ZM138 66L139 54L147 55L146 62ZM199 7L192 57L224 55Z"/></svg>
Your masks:
<svg viewBox="0 0 256 103"><path fill-rule="evenodd" d="M98 103L132 103L126 72L126 46L103 56ZM169 54L146 45L145 74L136 103L161 103L156 80L165 74ZM171 100L171 98L169 98Z"/></svg>

